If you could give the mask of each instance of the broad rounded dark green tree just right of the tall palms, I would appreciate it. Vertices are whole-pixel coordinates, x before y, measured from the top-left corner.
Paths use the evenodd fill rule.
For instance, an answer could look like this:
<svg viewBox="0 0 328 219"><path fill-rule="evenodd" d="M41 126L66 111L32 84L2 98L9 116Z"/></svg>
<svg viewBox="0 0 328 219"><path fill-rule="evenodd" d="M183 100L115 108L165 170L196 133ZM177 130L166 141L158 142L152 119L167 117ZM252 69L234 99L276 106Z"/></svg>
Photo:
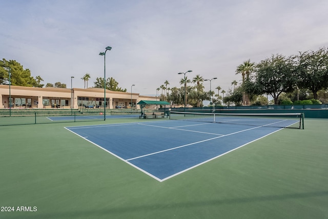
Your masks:
<svg viewBox="0 0 328 219"><path fill-rule="evenodd" d="M295 65L291 57L276 54L256 65L254 78L245 81L243 89L252 94L270 94L274 104L282 92L292 92L296 85Z"/></svg>

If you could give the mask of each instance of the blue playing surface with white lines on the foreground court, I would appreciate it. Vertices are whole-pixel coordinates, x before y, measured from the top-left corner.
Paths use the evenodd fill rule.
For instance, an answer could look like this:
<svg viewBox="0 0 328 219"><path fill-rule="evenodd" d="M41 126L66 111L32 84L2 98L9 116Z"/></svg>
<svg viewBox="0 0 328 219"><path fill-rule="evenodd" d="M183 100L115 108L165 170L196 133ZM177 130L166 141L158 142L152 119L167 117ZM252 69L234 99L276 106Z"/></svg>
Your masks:
<svg viewBox="0 0 328 219"><path fill-rule="evenodd" d="M162 182L281 128L166 120L66 129Z"/></svg>

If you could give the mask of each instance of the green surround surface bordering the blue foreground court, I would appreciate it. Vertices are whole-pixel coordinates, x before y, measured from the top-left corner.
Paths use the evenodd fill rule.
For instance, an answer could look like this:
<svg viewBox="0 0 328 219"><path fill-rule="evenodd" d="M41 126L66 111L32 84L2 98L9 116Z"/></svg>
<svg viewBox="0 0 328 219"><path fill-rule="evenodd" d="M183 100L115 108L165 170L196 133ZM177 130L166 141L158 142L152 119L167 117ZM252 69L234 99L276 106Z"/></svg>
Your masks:
<svg viewBox="0 0 328 219"><path fill-rule="evenodd" d="M164 182L64 128L120 122L0 126L0 218L328 218L327 119Z"/></svg>

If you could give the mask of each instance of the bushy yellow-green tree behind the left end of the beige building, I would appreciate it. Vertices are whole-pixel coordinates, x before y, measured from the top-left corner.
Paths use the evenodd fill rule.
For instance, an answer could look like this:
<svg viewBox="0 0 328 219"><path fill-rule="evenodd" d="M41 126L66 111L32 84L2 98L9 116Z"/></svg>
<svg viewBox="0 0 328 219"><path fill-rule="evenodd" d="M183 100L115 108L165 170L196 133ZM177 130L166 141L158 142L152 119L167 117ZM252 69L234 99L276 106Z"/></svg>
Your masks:
<svg viewBox="0 0 328 219"><path fill-rule="evenodd" d="M25 87L33 87L33 85L35 85L36 82L31 76L30 69L24 69L23 66L15 60L7 61L5 58L0 62L0 82L2 82L2 84L9 84L9 69L11 85Z"/></svg>

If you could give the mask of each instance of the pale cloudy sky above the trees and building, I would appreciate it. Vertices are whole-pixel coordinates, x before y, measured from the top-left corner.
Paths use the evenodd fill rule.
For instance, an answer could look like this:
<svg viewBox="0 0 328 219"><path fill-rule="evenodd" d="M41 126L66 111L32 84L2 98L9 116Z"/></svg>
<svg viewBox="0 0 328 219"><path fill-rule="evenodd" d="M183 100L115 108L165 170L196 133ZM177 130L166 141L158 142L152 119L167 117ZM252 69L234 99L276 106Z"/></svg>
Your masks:
<svg viewBox="0 0 328 219"><path fill-rule="evenodd" d="M84 88L83 77L156 95L181 87L183 74L213 79L211 89L241 82L236 67L272 54L328 46L326 0L0 0L0 58L15 60L42 84ZM210 82L203 82L210 90ZM159 94L161 91L159 91Z"/></svg>

